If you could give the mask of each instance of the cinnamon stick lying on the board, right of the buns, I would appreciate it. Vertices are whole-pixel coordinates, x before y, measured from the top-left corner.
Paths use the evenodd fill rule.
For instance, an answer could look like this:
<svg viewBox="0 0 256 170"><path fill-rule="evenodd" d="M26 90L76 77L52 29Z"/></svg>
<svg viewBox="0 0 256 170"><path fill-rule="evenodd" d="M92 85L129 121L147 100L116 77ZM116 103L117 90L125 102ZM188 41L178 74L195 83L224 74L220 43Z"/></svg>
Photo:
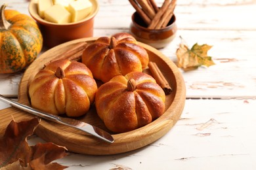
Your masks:
<svg viewBox="0 0 256 170"><path fill-rule="evenodd" d="M163 89L165 94L169 94L172 92L171 86L167 82L166 78L161 73L160 69L158 68L158 65L156 63L150 61L148 63L148 68L150 69L150 72L152 73L152 76L156 79L156 82L160 85L160 87Z"/></svg>

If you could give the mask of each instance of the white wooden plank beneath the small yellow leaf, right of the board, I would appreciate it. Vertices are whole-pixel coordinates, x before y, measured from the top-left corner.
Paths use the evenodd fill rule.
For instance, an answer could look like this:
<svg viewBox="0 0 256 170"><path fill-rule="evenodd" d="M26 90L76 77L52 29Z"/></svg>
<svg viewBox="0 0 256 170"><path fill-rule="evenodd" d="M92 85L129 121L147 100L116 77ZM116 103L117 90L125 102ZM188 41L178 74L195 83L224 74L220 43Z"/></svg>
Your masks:
<svg viewBox="0 0 256 170"><path fill-rule="evenodd" d="M256 96L255 31L179 31L188 46L196 42L209 44L209 56L216 65L184 72L187 96ZM175 39L163 54L177 61L175 51L180 40Z"/></svg>

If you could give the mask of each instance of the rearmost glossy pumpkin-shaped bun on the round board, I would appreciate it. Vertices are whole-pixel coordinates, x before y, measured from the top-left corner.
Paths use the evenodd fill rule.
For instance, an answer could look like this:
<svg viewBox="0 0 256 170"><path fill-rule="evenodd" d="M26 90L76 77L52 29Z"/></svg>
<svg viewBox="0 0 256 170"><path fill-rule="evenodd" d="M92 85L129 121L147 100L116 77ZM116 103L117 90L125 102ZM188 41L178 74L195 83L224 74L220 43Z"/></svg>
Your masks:
<svg viewBox="0 0 256 170"><path fill-rule="evenodd" d="M94 78L108 82L116 75L142 72L148 65L148 53L129 33L100 37L83 51L82 62Z"/></svg>

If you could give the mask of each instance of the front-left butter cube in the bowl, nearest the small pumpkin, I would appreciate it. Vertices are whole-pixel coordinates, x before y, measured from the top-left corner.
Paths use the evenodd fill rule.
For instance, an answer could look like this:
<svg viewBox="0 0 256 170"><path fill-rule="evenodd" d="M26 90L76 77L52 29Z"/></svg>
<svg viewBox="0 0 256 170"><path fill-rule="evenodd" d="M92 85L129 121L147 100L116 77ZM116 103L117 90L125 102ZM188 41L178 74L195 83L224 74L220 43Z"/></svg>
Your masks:
<svg viewBox="0 0 256 170"><path fill-rule="evenodd" d="M71 14L62 5L53 5L45 10L45 20L57 24L70 23Z"/></svg>

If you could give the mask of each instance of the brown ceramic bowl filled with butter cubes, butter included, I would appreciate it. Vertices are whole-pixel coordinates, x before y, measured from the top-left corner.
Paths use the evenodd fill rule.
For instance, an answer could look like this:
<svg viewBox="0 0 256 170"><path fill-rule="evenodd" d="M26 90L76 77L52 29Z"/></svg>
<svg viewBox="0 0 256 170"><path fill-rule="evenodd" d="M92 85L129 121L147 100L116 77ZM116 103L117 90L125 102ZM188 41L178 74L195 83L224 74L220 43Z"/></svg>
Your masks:
<svg viewBox="0 0 256 170"><path fill-rule="evenodd" d="M30 15L37 21L44 45L52 48L74 39L93 37L96 0L32 0Z"/></svg>

